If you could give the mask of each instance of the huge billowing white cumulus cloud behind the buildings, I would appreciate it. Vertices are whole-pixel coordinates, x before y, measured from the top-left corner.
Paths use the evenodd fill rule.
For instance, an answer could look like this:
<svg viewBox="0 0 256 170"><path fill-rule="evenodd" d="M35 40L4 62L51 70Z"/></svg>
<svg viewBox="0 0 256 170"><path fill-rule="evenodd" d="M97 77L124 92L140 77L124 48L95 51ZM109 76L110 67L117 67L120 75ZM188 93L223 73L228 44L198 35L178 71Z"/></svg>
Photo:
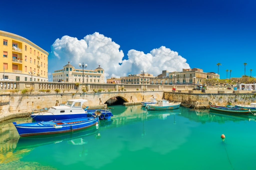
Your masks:
<svg viewBox="0 0 256 170"><path fill-rule="evenodd" d="M156 76L162 70L182 71L183 68L190 68L185 58L165 46L155 48L147 54L131 49L127 54L128 59L123 60L124 53L120 50L120 45L98 32L86 35L82 40L65 35L55 40L51 50L49 73L63 69L68 61L77 69L78 64L83 62L88 64L88 70L94 70L100 65L105 71L105 82L110 77L139 74L141 70Z"/></svg>

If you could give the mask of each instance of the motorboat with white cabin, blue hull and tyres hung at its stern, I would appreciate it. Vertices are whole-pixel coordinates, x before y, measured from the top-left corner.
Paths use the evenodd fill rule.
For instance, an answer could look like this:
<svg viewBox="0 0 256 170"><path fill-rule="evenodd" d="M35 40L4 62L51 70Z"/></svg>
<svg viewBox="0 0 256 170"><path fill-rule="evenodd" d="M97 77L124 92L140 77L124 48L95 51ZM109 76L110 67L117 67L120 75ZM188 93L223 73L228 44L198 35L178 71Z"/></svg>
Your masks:
<svg viewBox="0 0 256 170"><path fill-rule="evenodd" d="M55 121L55 120L66 120L66 119L78 119L82 117L88 117L87 114L92 114L94 117L99 116L99 119L110 119L113 116L111 110L88 110L82 108L86 99L71 99L68 100L65 105L52 106L46 112L33 113L30 116L36 121Z"/></svg>

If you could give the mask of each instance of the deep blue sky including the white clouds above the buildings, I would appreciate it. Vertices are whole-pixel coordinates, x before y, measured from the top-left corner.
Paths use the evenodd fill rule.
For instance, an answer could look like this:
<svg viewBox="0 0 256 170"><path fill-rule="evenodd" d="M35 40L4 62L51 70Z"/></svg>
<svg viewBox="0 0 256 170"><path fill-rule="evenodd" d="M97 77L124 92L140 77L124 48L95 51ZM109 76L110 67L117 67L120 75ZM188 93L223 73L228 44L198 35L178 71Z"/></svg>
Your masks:
<svg viewBox="0 0 256 170"><path fill-rule="evenodd" d="M106 78L201 68L256 77L256 1L3 1L0 30L48 51L48 74L68 61ZM228 72L229 78L230 72ZM51 76L49 76L51 78ZM49 79L50 80L50 79Z"/></svg>

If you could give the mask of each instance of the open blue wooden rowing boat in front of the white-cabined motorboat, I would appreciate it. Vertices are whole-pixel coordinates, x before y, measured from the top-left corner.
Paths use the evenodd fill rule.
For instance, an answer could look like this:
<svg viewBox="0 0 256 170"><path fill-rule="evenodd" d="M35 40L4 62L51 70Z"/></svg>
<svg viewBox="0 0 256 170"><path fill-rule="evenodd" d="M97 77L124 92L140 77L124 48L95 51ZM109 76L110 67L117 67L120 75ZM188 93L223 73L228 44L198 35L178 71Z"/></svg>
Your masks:
<svg viewBox="0 0 256 170"><path fill-rule="evenodd" d="M68 119L60 121L46 121L46 122L32 122L22 123L15 125L19 136L34 136L34 135L47 135L58 134L65 132L73 132L80 129L85 129L98 124L98 117L88 117L79 119Z"/></svg>

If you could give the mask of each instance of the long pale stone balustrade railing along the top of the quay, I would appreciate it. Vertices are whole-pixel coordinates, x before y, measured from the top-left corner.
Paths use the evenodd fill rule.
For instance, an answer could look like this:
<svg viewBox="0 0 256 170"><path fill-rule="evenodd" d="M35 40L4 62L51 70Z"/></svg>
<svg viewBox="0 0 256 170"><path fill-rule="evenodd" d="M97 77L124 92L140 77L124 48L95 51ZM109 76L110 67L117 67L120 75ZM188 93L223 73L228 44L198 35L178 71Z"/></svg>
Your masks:
<svg viewBox="0 0 256 170"><path fill-rule="evenodd" d="M33 91L78 90L78 91L136 91L136 90L192 90L193 85L163 85L163 84L110 84L110 83L69 83L69 82L31 82L31 81L1 81L0 91L33 89ZM224 86L207 86L207 90L225 90ZM231 87L233 89L233 87Z"/></svg>

